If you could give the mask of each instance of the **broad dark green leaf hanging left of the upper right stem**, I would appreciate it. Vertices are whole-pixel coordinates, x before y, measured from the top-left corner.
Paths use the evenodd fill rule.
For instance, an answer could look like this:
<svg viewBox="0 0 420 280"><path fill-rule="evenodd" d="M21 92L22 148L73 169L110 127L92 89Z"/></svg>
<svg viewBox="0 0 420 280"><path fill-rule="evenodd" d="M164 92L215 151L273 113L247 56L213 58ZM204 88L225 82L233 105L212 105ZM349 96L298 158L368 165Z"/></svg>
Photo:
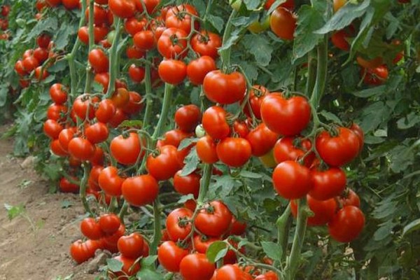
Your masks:
<svg viewBox="0 0 420 280"><path fill-rule="evenodd" d="M324 25L321 13L315 8L304 5L299 9L295 38L293 40L293 59L303 57L318 45L323 35L314 33Z"/></svg>

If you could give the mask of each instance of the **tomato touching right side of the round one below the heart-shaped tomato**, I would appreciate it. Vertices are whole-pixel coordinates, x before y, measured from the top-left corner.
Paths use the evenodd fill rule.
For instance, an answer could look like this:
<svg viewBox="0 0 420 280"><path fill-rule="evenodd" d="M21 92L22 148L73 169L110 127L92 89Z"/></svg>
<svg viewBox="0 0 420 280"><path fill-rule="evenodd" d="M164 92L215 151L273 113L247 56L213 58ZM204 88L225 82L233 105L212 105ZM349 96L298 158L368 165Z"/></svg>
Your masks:
<svg viewBox="0 0 420 280"><path fill-rule="evenodd" d="M311 169L312 189L309 195L316 200L329 200L340 195L346 188L346 173L331 167L325 171Z"/></svg>

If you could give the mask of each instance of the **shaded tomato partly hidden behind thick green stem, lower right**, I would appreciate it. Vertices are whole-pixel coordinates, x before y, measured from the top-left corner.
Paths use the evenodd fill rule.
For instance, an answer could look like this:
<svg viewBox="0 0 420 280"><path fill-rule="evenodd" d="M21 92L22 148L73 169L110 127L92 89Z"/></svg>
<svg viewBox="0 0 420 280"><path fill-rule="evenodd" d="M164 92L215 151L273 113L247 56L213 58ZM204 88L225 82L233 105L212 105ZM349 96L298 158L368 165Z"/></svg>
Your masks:
<svg viewBox="0 0 420 280"><path fill-rule="evenodd" d="M337 202L334 198L329 200L315 200L310 195L307 195L307 204L309 209L314 212L314 216L308 218L308 225L325 225L332 220L332 217L335 215L337 210ZM297 217L297 203L295 200L290 200L290 208L292 210L293 216Z"/></svg>

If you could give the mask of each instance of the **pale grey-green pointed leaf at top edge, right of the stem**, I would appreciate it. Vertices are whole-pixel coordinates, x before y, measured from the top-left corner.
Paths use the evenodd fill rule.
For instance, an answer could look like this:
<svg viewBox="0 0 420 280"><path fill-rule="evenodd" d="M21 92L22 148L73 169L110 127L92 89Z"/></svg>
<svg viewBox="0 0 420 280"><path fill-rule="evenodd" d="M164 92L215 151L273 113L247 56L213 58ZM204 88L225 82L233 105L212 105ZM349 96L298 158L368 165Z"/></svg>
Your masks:
<svg viewBox="0 0 420 280"><path fill-rule="evenodd" d="M321 28L315 31L316 34L327 34L330 31L343 29L349 26L353 20L360 18L366 13L370 5L370 0L365 0L360 5L353 4L351 1L347 2L337 13L335 13L330 20Z"/></svg>

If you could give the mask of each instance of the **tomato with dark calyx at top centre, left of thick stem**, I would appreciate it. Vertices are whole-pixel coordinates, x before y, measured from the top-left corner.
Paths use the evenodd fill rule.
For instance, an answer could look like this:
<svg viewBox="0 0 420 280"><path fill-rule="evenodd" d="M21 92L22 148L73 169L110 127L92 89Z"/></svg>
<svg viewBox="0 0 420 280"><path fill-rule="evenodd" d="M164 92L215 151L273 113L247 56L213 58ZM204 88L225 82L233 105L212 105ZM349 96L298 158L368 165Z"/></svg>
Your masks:
<svg viewBox="0 0 420 280"><path fill-rule="evenodd" d="M208 55L213 59L218 57L218 48L222 46L221 36L210 31L202 31L191 38L191 47L200 56Z"/></svg>

